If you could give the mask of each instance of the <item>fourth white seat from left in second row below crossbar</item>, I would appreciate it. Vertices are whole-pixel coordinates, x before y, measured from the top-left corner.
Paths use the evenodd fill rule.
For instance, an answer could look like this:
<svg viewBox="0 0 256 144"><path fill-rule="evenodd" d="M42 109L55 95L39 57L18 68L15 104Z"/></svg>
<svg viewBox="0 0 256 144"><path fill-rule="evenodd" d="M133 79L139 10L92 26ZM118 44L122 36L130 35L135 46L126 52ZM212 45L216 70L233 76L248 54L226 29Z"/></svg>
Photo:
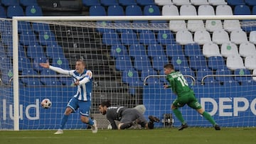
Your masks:
<svg viewBox="0 0 256 144"><path fill-rule="evenodd" d="M247 43L247 34L242 30L235 30L230 33L230 41L232 43L240 45L241 43Z"/></svg>

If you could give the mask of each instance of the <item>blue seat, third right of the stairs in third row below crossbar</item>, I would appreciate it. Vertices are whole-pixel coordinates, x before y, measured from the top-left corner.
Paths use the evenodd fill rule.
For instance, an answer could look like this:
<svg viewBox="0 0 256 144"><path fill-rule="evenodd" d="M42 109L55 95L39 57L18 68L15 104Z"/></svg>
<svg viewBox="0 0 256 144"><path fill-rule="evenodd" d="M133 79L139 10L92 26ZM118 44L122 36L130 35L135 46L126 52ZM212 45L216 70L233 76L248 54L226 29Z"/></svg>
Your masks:
<svg viewBox="0 0 256 144"><path fill-rule="evenodd" d="M149 57L157 57L157 56L164 56L165 52L164 52L164 48L162 45L149 45L147 47L147 55Z"/></svg>

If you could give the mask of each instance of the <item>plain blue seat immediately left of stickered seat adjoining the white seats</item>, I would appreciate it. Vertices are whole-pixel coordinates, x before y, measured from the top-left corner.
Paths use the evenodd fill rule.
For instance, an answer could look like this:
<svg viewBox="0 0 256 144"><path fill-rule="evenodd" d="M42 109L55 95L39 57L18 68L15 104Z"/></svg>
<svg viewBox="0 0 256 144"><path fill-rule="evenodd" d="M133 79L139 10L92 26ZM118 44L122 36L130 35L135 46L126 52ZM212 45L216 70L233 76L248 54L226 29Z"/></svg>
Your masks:
<svg viewBox="0 0 256 144"><path fill-rule="evenodd" d="M156 44L157 41L154 32L150 30L142 30L142 32L139 33L139 43L144 45Z"/></svg>

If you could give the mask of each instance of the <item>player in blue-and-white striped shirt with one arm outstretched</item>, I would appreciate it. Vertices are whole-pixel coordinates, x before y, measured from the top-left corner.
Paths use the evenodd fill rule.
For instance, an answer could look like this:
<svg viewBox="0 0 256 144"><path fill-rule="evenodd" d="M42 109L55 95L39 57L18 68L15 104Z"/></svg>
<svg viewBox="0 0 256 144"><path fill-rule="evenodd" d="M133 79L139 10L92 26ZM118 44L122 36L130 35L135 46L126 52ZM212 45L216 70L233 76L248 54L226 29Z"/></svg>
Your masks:
<svg viewBox="0 0 256 144"><path fill-rule="evenodd" d="M66 74L73 77L74 86L78 87L77 92L68 102L68 106L63 113L60 121L60 128L54 134L63 134L63 128L68 121L70 113L75 112L79 108L80 119L82 123L87 123L92 126L92 133L97 133L97 122L89 118L89 111L91 106L92 96L92 72L85 69L85 62L77 60L75 62L75 70L63 70L60 67L53 67L46 63L40 63L41 67L48 68L60 74Z"/></svg>

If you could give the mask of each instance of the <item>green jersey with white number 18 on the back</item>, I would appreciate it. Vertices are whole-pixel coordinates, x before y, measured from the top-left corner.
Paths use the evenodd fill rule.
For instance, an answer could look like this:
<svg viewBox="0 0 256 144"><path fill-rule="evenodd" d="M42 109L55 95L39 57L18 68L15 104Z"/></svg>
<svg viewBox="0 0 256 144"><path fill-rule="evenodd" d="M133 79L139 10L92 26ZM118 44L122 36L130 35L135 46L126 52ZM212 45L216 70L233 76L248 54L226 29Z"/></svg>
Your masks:
<svg viewBox="0 0 256 144"><path fill-rule="evenodd" d="M166 77L171 87L171 90L177 94L177 96L182 96L183 94L187 94L189 92L193 92L190 87L188 87L188 82L183 77L181 72L171 72Z"/></svg>

